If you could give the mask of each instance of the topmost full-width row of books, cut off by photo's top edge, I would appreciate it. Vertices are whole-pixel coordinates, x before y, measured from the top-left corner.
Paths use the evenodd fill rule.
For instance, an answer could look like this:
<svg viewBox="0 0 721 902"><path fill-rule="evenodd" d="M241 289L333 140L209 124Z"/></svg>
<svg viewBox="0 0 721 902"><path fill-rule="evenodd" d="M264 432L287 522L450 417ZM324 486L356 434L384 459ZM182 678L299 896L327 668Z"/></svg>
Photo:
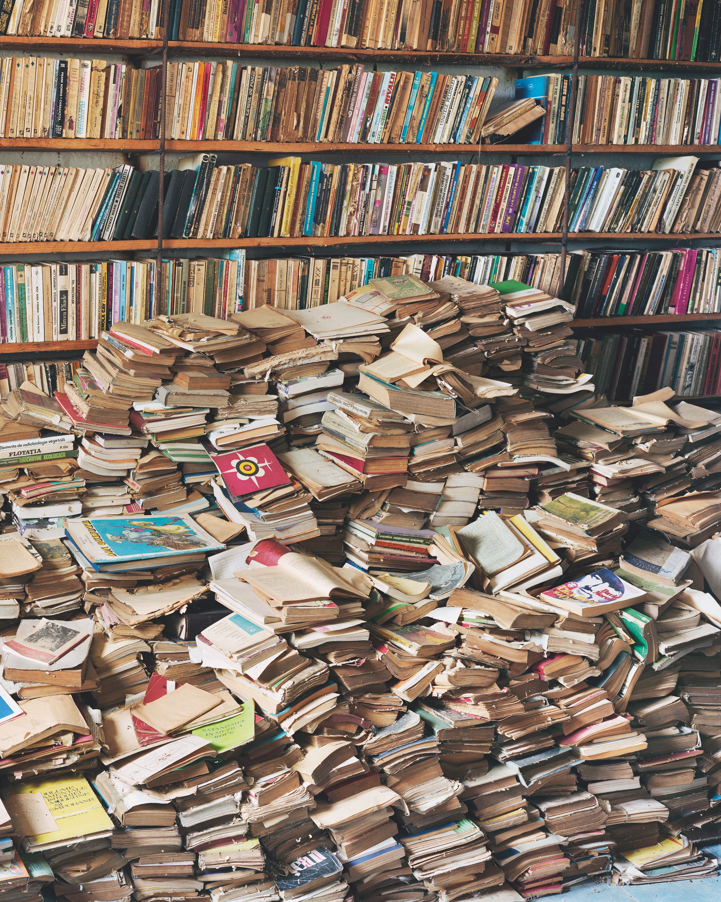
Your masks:
<svg viewBox="0 0 721 902"><path fill-rule="evenodd" d="M62 37L162 37L163 5L142 14L140 0L15 0L0 34ZM552 0L170 0L170 41L286 44L349 49L571 56L577 3ZM721 22L713 0L609 0L584 5L580 55L629 59L719 59Z"/></svg>

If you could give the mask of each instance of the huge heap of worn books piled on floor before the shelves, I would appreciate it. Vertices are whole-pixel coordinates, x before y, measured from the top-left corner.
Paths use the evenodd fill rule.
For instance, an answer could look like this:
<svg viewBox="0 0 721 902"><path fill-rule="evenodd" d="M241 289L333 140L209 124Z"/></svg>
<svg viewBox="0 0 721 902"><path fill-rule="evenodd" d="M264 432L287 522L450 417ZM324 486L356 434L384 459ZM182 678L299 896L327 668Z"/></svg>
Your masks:
<svg viewBox="0 0 721 902"><path fill-rule="evenodd" d="M0 888L715 873L721 418L608 406L570 312L389 275L114 323L4 398Z"/></svg>

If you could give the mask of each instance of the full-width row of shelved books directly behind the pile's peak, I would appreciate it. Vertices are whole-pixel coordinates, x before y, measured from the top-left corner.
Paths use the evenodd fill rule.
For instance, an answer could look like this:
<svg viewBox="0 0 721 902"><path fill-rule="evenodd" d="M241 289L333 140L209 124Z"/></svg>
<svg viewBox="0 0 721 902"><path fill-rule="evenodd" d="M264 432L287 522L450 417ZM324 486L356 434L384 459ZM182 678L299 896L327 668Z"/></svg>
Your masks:
<svg viewBox="0 0 721 902"><path fill-rule="evenodd" d="M152 259L0 265L5 300L0 344L96 339L112 322L141 323L167 313L224 319L264 304L315 308L371 279L404 274L424 281L453 275L477 285L512 279L552 294L561 281L562 297L584 319L648 316L654 305L656 314L679 316L680 323L687 314L721 313L719 248L574 251L567 255L564 280L560 253L247 260L240 250L224 257L166 259L160 289L155 272ZM424 305L413 314L424 322ZM493 335L497 328L497 318L474 326L476 335ZM454 332L466 336L467 327L456 324Z"/></svg>

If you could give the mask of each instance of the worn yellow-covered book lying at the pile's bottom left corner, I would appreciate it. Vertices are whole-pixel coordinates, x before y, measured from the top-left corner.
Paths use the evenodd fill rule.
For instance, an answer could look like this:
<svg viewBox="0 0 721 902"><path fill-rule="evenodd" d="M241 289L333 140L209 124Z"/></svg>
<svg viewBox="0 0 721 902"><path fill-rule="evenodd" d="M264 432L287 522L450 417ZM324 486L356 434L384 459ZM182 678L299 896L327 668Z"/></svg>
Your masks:
<svg viewBox="0 0 721 902"><path fill-rule="evenodd" d="M3 790L24 851L44 851L113 833L113 822L84 777L29 780Z"/></svg>

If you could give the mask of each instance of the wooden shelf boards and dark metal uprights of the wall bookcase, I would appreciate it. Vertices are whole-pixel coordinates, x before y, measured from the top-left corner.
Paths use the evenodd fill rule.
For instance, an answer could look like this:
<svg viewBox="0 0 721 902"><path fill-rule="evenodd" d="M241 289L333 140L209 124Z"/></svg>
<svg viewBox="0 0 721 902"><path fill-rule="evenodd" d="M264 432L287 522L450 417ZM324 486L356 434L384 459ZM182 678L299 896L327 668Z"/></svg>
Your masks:
<svg viewBox="0 0 721 902"><path fill-rule="evenodd" d="M197 153L214 152L223 154L250 154L250 155L300 155L300 154L341 154L350 159L351 155L357 155L363 161L378 160L386 156L395 156L403 161L404 158L413 159L414 155L433 155L439 159L453 159L469 157L481 162L484 158L493 156L496 160L516 162L518 157L556 157L556 165L564 165L566 197L569 197L570 172L572 166L578 165L578 158L586 154L592 155L594 160L588 161L592 165L598 160L599 154L613 154L619 157L628 156L629 165L633 167L633 158L639 154L653 155L686 155L694 154L708 160L714 155L721 155L721 145L661 145L661 144L383 144L383 143L265 143L257 141L180 141L166 139L165 137L165 87L170 59L196 58L196 59L243 59L259 60L259 64L293 65L319 63L322 66L331 64L361 63L374 66L398 64L401 68L454 66L463 67L499 67L507 70L516 70L518 76L522 76L524 70L571 72L573 75L569 97L569 109L567 122L574 120L577 107L577 87L580 70L615 70L618 74L632 74L637 72L652 72L662 76L671 75L687 76L689 78L699 75L721 75L721 61L718 62L689 62L685 60L632 60L608 57L580 56L580 17L581 4L577 7L576 35L577 42L572 56L529 56L525 54L473 54L431 51L401 51L401 50L356 50L334 47L295 47L277 44L237 44L204 41L169 41L164 40L115 40L115 39L78 39L78 38L36 38L5 36L2 40L5 54L14 52L42 53L43 51L60 51L68 53L82 53L85 55L102 56L103 54L121 54L136 62L149 60L160 61L162 71L162 89L160 91L160 138L156 140L108 140L108 139L0 139L0 149L5 151L50 151L50 152L123 152L126 155L149 156L157 155L160 168L160 201L159 214L162 217L163 209L163 173L166 167L167 153ZM166 5L165 34L169 33L167 16L169 6ZM160 58L160 60L159 60ZM569 127L570 132L570 127ZM569 135L570 137L570 135ZM563 161L561 162L561 159ZM621 163L621 165L624 165ZM638 247L650 246L654 249L662 249L666 246L694 247L698 243L719 243L721 234L718 233L693 233L682 235L664 235L658 233L593 233L593 232L569 232L568 207L563 207L563 222L561 231L552 233L492 233L460 235L362 235L362 236L331 236L331 237L307 237L297 238L241 238L241 239L145 239L141 241L111 241L111 242L41 242L41 243L8 243L0 244L0 254L23 257L23 255L55 255L65 253L103 253L104 255L122 254L141 257L156 257L160 262L163 253L188 253L190 256L202 253L221 252L229 248L262 249L268 255L270 248L279 254L306 253L313 254L323 252L330 253L356 253L361 255L370 252L378 253L383 248L388 248L389 253L413 253L412 248L426 251L429 247L438 247L438 253L452 253L458 248L458 253L484 253L481 243L493 243L496 246L505 244L505 252L516 249L517 253L548 253L555 250L560 253L561 261L558 272L565 272L567 251L571 246L584 244L593 249L599 246L625 246L633 249L634 243ZM718 246L718 244L716 244ZM462 250L461 250L462 248ZM490 252L494 253L494 252ZM556 292L561 290L556 286ZM701 323L710 321L713 314L689 314L685 316L652 316L652 317L614 317L614 318L583 318L573 322L574 327L579 328L613 328L622 326L647 326L656 327L662 323ZM721 317L720 317L721 318ZM57 346L56 346L57 345ZM11 347L21 345L0 346L0 356L14 353ZM59 342L59 343L35 343L34 345L22 345L23 351L40 352L41 350L78 351L88 346L94 346L93 342Z"/></svg>

